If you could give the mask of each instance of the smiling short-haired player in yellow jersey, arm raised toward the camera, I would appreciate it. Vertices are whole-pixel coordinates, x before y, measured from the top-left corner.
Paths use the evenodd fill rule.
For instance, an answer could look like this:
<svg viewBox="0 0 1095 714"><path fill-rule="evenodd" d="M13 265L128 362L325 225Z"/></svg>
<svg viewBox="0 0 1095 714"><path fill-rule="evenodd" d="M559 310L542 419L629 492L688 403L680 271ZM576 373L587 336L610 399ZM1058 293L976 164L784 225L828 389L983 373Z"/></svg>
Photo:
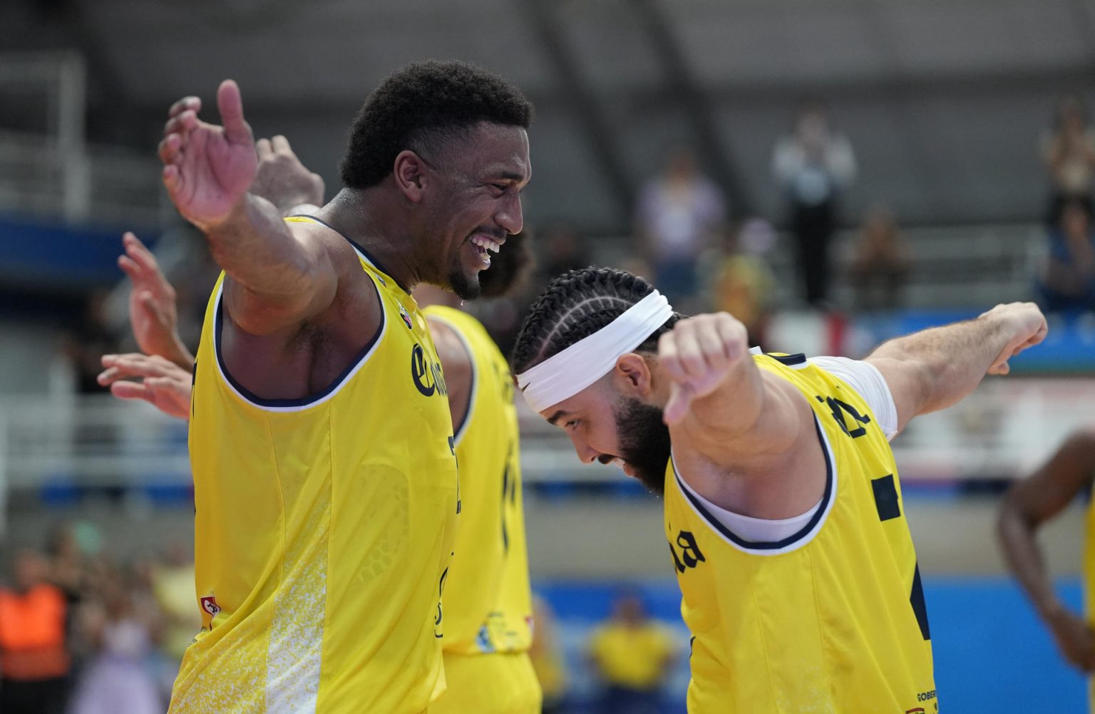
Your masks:
<svg viewBox="0 0 1095 714"><path fill-rule="evenodd" d="M176 103L175 206L224 269L191 410L203 632L172 711L420 712L445 689L439 598L458 510L447 388L419 283L479 292L521 229L531 105L459 62L369 96L315 217L247 193L240 92L223 126Z"/></svg>

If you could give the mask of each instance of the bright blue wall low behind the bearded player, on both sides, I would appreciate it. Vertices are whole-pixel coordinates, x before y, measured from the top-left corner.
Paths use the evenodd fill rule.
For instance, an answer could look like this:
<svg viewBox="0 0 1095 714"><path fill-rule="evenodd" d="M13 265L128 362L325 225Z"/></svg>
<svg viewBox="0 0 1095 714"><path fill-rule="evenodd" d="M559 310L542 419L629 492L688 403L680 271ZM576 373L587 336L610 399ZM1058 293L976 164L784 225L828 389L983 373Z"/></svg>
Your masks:
<svg viewBox="0 0 1095 714"><path fill-rule="evenodd" d="M673 580L622 583L544 581L535 585L552 606L566 650L572 683L567 712L586 712L596 682L584 664L590 629L608 617L620 588L633 585L650 613L679 630L681 653L662 711L683 712L688 684L688 632L680 619L680 595ZM1084 679L1057 654L1015 585L1004 578L926 578L927 612L935 653L935 683L941 712L1086 711ZM1063 598L1080 610L1079 583L1059 585Z"/></svg>

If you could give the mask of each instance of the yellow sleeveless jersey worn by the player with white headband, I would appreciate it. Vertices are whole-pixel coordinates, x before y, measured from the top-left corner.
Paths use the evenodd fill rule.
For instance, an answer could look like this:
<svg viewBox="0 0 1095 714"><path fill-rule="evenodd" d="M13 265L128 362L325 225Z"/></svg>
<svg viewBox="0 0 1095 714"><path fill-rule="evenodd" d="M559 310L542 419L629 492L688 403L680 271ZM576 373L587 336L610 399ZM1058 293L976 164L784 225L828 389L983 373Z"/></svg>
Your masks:
<svg viewBox="0 0 1095 714"><path fill-rule="evenodd" d="M889 444L864 400L802 355L753 357L798 388L826 453L821 504L749 542L666 469L665 526L692 631L692 714L938 711L920 571Z"/></svg>

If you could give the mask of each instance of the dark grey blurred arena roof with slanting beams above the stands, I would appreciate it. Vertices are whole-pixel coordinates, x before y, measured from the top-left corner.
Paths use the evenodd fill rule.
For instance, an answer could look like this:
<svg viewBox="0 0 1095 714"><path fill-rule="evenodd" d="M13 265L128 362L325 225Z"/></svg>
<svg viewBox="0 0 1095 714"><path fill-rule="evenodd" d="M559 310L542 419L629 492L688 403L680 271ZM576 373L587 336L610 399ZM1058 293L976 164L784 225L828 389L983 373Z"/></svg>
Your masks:
<svg viewBox="0 0 1095 714"><path fill-rule="evenodd" d="M739 210L779 218L772 145L810 97L856 150L850 219L875 203L910 223L1034 219L1056 99L1095 99L1090 0L51 1L80 23L93 100L147 113L235 78L256 130L332 187L383 76L481 64L538 105L527 214L602 231L627 230L681 143Z"/></svg>

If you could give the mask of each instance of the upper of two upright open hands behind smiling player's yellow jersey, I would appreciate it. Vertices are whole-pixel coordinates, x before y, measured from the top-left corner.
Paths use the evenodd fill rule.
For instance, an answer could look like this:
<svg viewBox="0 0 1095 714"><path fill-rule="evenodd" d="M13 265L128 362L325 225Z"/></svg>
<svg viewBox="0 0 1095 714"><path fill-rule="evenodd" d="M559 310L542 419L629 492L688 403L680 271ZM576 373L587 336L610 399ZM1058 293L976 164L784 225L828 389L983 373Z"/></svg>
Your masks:
<svg viewBox="0 0 1095 714"><path fill-rule="evenodd" d="M175 289L160 270L155 256L132 233L122 237L125 255L118 267L129 276L129 324L137 346L147 355L159 355L188 368L194 358L178 338Z"/></svg>

